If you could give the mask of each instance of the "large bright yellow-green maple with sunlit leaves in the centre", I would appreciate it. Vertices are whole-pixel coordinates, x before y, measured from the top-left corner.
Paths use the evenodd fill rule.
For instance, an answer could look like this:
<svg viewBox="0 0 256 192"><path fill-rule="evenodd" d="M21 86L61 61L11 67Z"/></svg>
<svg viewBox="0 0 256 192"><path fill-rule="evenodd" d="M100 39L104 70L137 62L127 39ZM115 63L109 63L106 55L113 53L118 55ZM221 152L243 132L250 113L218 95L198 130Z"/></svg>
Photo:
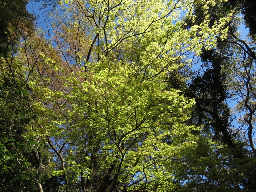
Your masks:
<svg viewBox="0 0 256 192"><path fill-rule="evenodd" d="M39 96L31 104L39 133L55 153L51 175L64 178L66 191L175 191L214 182L188 180L192 170L181 167L208 138L192 134L193 100L167 90L166 81L191 62L188 52L214 44L228 16L188 31L179 12L189 17L191 1L59 3L48 17L56 48L26 57L39 58L29 86ZM191 39L198 28L200 38Z"/></svg>

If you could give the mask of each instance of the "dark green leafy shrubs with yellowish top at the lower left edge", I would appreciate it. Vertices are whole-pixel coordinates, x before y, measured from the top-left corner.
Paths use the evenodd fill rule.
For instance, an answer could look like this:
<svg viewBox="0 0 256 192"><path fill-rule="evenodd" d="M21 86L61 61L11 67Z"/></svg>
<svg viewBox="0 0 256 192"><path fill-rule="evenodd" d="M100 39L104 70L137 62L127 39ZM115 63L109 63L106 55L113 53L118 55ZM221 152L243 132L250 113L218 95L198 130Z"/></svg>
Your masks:
<svg viewBox="0 0 256 192"><path fill-rule="evenodd" d="M26 101L28 91L26 87L16 86L24 83L24 74L17 61L12 62L12 72L3 58L0 66L0 191L33 191L34 181L25 168L28 161L21 155L28 154L22 135L31 120Z"/></svg>

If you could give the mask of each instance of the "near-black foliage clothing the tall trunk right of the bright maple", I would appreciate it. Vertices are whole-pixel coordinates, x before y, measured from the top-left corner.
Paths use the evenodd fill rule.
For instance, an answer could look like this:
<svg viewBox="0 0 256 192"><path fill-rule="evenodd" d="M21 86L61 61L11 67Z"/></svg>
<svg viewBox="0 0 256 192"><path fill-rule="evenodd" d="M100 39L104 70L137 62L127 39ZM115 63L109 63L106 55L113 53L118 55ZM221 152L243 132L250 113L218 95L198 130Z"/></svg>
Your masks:
<svg viewBox="0 0 256 192"><path fill-rule="evenodd" d="M210 20L209 27L213 25L215 21L218 20L228 13L232 9L235 9L236 13L239 14L240 9L244 16L246 26L250 28L250 33L255 34L255 3L252 1L227 1L223 4L216 3L216 6L209 7ZM188 20L187 27L188 29L193 25L199 25L204 21L204 12L201 9L203 4L196 4L194 15L196 19L194 21ZM204 69L201 72L198 72L195 76L192 77L191 81L188 83L188 89L185 91L185 94L188 97L195 98L196 108L194 116L191 118L191 122L196 125L204 125L204 132L211 136L212 140L218 141L225 144L228 148L224 149L226 151L219 151L218 154L221 154L218 159L226 156L227 162L225 167L230 170L233 170L232 174L233 181L230 178L225 179L225 174L216 177L216 186L226 186L223 189L217 189L216 186L211 186L210 188L204 188L201 186L197 187L198 191L228 191L229 188L233 186L231 191L240 191L240 190L255 190L255 159L251 156L250 151L245 148L245 143L242 142L239 138L234 137L234 132L231 128L232 118L230 116L230 109L225 102L228 99L228 91L225 87L226 73L230 63L233 62L229 57L232 54L232 48L229 43L236 43L234 41L234 32L237 30L237 23L230 22L230 34L227 39L220 40L217 44L217 47L212 50L202 50L200 58L202 60L202 67ZM232 33L231 33L232 32ZM241 42L240 42L241 43ZM243 43L243 42L242 42ZM225 69L223 69L223 67ZM190 124L191 124L190 122ZM208 130L208 131L207 131ZM207 133L208 132L208 133ZM248 171L250 170L250 171ZM211 176L214 178L214 176ZM211 178L209 177L209 178ZM219 178L218 178L219 177ZM221 181L224 179L223 181ZM221 181L221 182L219 182ZM227 185L227 183L229 183ZM234 183L240 183L234 185ZM200 189L201 188L201 189Z"/></svg>

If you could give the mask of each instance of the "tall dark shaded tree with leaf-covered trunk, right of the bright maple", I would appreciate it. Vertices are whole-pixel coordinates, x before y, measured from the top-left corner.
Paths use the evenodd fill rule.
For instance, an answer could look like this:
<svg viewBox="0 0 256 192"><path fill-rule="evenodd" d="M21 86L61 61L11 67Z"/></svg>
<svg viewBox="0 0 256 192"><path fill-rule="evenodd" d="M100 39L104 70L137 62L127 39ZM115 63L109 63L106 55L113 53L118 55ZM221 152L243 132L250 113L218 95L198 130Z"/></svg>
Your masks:
<svg viewBox="0 0 256 192"><path fill-rule="evenodd" d="M188 29L194 25L199 25L204 22L206 16L208 17L202 9L203 6L204 4L200 3L195 5L193 14L196 18L194 20L188 19ZM187 91L187 94L196 100L197 107L195 110L194 123L208 124L208 129L213 132L212 140L217 140L227 145L230 155L234 158L230 161L229 166L236 167L236 177L238 179L240 177L244 189L249 191L255 190L255 183L253 182L256 174L255 169L253 168L255 167L255 159L252 157L251 151L246 149L247 144L239 138L241 133L232 129L232 126L235 125L232 125L233 118L231 118L230 109L225 100L231 97L231 93L229 92L230 88L226 87L226 78L232 78L228 74L231 69L230 66L236 61L244 63L242 65L245 66L246 64L244 61L247 61L247 57L252 60L255 59L253 48L251 48L250 44L247 44L244 40L239 39L236 33L238 28L237 16L242 12L246 26L250 29L250 34L255 34L255 25L253 25L255 22L253 18L255 16L252 12L253 7L254 3L249 3L248 1L227 1L210 4L208 7L209 18L207 18L211 21L209 27L213 27L215 23L218 23L221 18L231 13L232 10L234 19L230 20L229 24L226 26L229 28L228 34L226 34L224 38L221 33L217 36L217 46L215 49L202 49L200 58L203 63L202 67L204 68L192 78L191 82L188 84L189 89ZM200 31L198 31L198 36L200 36L199 34ZM241 50L243 53L240 54L240 51L237 52L237 50ZM237 58L238 55L242 55L241 59L234 59ZM245 71L247 71L247 69L245 69ZM238 73L238 76L240 73L241 76L243 72L236 70L236 73ZM233 78L235 78L235 76ZM249 82L251 81L250 77L246 76L244 81L247 82L247 87L249 87L251 84L251 82ZM240 88L242 89L242 86L240 86ZM248 89L248 96L244 96L244 98L247 98L244 99L247 103L250 100L249 98L253 98L253 92L252 96L249 96L251 94L249 93L250 90L252 91L252 89ZM234 90L231 91L233 92ZM240 92L243 92L243 90L240 90ZM237 90L237 93L239 95L239 90ZM246 105L244 106L246 108ZM251 106L249 106L249 109L251 109L250 107ZM253 116L253 113L252 108L251 112L248 112L247 114L248 117ZM252 131L250 132L250 129L248 131L248 138L249 140L252 138ZM252 142L250 141L250 146L253 149L253 143L251 143ZM245 164L247 167L244 166ZM239 172L243 172L243 176L239 176Z"/></svg>

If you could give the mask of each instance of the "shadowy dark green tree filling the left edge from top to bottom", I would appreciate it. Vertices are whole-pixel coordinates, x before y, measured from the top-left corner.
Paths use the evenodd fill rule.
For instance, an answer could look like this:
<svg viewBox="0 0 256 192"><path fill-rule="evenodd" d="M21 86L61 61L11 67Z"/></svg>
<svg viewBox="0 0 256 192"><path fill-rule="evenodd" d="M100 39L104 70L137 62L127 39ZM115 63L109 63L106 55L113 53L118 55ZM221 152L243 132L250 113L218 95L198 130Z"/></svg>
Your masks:
<svg viewBox="0 0 256 192"><path fill-rule="evenodd" d="M42 191L41 173L51 159L44 138L33 135L36 112L30 106L27 84L32 68L15 57L20 42L28 43L34 31L35 18L26 3L0 2L1 191Z"/></svg>

